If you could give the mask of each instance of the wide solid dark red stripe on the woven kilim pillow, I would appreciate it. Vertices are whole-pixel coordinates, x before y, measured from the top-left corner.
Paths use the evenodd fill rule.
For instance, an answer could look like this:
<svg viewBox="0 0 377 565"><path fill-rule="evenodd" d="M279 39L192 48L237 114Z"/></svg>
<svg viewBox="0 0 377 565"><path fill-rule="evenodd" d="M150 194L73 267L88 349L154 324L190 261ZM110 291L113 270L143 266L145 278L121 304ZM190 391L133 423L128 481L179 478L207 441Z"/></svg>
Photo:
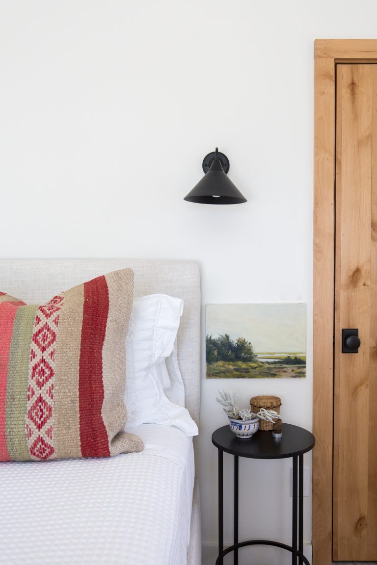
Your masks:
<svg viewBox="0 0 377 565"><path fill-rule="evenodd" d="M109 457L109 438L102 420L102 347L109 315L104 276L84 283L83 328L79 363L80 444L83 457Z"/></svg>

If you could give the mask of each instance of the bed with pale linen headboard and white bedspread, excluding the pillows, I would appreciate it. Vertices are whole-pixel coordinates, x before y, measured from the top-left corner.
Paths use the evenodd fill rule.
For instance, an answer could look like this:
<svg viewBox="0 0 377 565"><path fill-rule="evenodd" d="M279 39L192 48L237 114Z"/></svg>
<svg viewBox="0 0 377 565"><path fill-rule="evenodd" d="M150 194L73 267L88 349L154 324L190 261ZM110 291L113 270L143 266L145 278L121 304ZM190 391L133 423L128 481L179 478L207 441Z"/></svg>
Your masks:
<svg viewBox="0 0 377 565"><path fill-rule="evenodd" d="M0 260L0 289L43 301L131 267L135 296L184 299L177 336L185 406L200 408L200 273L189 261ZM192 437L175 427L129 428L141 453L109 459L0 463L0 562L200 565L200 499Z"/></svg>

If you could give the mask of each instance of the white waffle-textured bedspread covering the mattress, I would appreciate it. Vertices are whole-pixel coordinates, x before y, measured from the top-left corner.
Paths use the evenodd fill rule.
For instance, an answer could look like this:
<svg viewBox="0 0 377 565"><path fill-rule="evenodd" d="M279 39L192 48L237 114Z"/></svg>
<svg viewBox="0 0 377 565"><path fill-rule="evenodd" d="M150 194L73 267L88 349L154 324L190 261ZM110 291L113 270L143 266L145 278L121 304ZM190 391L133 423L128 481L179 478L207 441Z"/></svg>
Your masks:
<svg viewBox="0 0 377 565"><path fill-rule="evenodd" d="M192 438L129 429L141 453L109 459L0 463L0 563L184 565L190 534Z"/></svg>

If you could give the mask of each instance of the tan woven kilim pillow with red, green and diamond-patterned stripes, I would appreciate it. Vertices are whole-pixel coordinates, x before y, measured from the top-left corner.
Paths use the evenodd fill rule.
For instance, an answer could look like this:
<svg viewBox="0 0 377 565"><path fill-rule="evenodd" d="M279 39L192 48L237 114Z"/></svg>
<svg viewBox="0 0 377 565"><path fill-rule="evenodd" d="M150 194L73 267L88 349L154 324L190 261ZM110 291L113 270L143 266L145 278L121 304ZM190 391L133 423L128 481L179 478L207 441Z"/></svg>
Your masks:
<svg viewBox="0 0 377 565"><path fill-rule="evenodd" d="M0 292L0 460L141 451L125 433L125 336L133 272L29 306Z"/></svg>

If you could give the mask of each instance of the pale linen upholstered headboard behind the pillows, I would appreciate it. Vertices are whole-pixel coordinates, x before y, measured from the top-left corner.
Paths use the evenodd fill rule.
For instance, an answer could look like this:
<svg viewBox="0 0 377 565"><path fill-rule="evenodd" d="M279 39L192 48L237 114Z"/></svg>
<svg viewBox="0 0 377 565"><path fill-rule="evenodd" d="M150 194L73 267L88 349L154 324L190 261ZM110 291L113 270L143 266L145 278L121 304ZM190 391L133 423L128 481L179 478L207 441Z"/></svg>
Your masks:
<svg viewBox="0 0 377 565"><path fill-rule="evenodd" d="M26 303L41 303L62 290L131 267L135 296L164 293L184 299L178 332L178 359L185 403L199 423L200 410L200 271L193 261L155 259L0 259L0 291Z"/></svg>

